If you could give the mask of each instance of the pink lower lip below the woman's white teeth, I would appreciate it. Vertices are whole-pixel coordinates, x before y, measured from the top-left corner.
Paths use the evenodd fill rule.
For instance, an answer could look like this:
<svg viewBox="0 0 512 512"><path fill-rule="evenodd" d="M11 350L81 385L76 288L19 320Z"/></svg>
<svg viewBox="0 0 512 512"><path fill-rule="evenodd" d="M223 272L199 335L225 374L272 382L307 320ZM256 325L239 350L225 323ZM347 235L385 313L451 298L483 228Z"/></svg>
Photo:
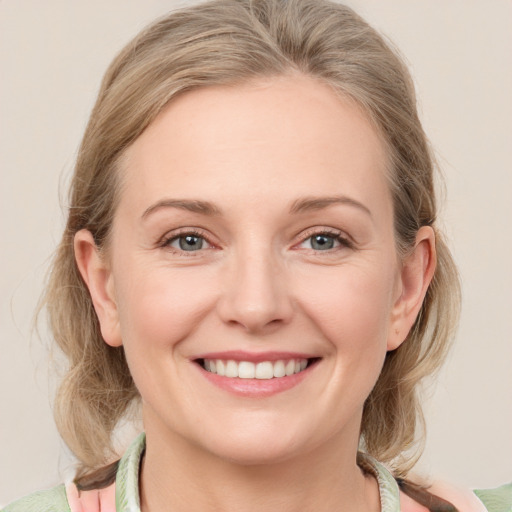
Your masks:
<svg viewBox="0 0 512 512"><path fill-rule="evenodd" d="M276 395L294 388L307 378L317 363L309 365L305 370L287 377L274 377L273 379L240 379L222 377L216 373L206 371L201 365L197 365L202 375L215 386L229 391L234 395L248 398L264 398Z"/></svg>

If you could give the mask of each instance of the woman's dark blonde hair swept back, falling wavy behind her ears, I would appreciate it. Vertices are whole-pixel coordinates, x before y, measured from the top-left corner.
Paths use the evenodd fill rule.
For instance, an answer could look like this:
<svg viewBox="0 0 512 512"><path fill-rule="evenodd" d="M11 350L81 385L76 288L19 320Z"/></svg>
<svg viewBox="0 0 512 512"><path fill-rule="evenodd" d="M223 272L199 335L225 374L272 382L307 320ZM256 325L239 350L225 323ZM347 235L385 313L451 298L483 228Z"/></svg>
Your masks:
<svg viewBox="0 0 512 512"><path fill-rule="evenodd" d="M436 233L437 266L421 311L406 341L387 354L361 426L364 449L398 475L419 456L418 383L442 363L460 301L457 271L437 227L436 167L409 72L384 38L346 6L327 0L212 0L157 20L126 45L106 72L78 153L44 303L69 362L55 399L56 422L82 474L116 457L116 425L139 395L123 348L102 339L75 262L75 234L88 229L100 249L106 246L119 200L121 157L174 98L201 87L297 72L354 100L384 140L398 253L404 256L414 246L420 227L432 226Z"/></svg>

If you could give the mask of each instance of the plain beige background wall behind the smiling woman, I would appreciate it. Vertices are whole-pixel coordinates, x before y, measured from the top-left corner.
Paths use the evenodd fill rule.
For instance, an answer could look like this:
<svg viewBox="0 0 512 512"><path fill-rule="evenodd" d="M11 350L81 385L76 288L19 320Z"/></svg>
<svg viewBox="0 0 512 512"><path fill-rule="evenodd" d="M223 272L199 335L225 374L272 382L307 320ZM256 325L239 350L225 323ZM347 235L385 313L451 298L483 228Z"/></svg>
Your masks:
<svg viewBox="0 0 512 512"><path fill-rule="evenodd" d="M428 402L421 467L466 486L498 485L512 479L512 1L349 4L411 63L463 277L462 324ZM0 0L0 504L71 467L51 418L46 352L30 333L62 227L58 191L65 197L107 64L175 5Z"/></svg>

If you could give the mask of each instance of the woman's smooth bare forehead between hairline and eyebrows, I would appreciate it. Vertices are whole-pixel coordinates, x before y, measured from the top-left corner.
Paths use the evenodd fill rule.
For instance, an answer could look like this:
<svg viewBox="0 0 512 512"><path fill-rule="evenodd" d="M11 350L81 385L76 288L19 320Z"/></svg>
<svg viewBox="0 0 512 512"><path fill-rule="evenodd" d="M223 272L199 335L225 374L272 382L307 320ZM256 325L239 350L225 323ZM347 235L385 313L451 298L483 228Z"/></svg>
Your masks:
<svg viewBox="0 0 512 512"><path fill-rule="evenodd" d="M173 100L126 151L121 202L140 210L166 194L283 202L328 191L374 202L386 166L353 101L302 75L268 78Z"/></svg>

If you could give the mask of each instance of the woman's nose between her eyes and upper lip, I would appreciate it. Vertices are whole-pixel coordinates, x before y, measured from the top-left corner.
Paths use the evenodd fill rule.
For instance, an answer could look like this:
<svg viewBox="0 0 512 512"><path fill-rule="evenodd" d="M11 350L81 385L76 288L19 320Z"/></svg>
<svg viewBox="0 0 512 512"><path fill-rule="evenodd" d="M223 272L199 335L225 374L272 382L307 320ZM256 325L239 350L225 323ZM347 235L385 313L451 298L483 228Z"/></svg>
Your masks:
<svg viewBox="0 0 512 512"><path fill-rule="evenodd" d="M236 256L227 266L218 313L228 324L263 334L290 322L291 290L283 264L272 255Z"/></svg>

